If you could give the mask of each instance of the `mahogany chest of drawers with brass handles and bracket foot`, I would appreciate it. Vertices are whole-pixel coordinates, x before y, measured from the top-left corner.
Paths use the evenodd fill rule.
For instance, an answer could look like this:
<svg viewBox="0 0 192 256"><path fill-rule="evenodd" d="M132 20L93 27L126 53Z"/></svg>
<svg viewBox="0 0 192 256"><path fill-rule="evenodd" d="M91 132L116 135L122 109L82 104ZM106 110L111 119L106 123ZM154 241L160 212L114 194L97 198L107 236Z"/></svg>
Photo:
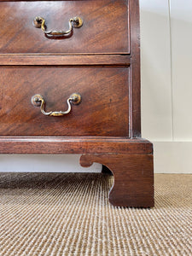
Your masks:
<svg viewBox="0 0 192 256"><path fill-rule="evenodd" d="M0 153L82 154L114 206L153 207L138 0L0 1ZM62 29L62 30L61 30Z"/></svg>

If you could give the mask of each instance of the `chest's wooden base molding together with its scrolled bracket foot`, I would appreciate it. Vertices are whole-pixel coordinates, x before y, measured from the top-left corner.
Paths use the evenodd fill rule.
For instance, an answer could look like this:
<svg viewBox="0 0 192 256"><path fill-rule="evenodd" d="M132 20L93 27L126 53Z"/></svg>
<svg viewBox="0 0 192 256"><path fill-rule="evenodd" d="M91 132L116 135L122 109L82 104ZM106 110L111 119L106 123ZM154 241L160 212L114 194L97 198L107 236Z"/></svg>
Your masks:
<svg viewBox="0 0 192 256"><path fill-rule="evenodd" d="M128 137L1 137L1 154L82 154L113 172L109 201L117 207L154 207L153 144Z"/></svg>

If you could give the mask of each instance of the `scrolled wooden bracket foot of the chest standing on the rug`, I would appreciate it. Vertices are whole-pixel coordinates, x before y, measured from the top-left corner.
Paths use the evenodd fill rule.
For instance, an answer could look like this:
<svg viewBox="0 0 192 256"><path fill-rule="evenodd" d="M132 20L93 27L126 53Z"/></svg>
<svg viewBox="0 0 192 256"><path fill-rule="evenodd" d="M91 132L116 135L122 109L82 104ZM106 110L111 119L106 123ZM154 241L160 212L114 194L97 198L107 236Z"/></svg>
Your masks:
<svg viewBox="0 0 192 256"><path fill-rule="evenodd" d="M109 201L118 207L154 207L152 154L84 154L81 166L102 163L113 172Z"/></svg>

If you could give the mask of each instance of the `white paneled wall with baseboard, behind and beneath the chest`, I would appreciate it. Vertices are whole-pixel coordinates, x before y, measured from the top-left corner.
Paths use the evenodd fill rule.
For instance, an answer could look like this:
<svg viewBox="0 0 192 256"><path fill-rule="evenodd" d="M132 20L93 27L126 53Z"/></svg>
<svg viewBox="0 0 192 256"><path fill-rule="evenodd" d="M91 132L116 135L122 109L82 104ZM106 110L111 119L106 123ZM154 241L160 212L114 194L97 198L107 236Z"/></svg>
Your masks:
<svg viewBox="0 0 192 256"><path fill-rule="evenodd" d="M192 1L140 0L142 131L154 172L192 172ZM0 172L101 172L79 155L1 155Z"/></svg>

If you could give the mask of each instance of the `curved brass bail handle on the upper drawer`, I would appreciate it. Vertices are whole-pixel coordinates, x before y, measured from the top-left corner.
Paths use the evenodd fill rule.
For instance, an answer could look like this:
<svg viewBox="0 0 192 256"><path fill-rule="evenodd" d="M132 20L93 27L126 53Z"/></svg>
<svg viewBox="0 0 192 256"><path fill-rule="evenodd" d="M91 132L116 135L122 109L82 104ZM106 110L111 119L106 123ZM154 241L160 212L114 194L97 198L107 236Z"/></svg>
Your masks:
<svg viewBox="0 0 192 256"><path fill-rule="evenodd" d="M61 38L63 36L70 35L73 31L73 27L83 26L83 20L80 17L74 17L68 21L69 29L67 31L46 31L45 20L42 17L35 17L33 20L34 26L42 29L44 35L48 38Z"/></svg>

